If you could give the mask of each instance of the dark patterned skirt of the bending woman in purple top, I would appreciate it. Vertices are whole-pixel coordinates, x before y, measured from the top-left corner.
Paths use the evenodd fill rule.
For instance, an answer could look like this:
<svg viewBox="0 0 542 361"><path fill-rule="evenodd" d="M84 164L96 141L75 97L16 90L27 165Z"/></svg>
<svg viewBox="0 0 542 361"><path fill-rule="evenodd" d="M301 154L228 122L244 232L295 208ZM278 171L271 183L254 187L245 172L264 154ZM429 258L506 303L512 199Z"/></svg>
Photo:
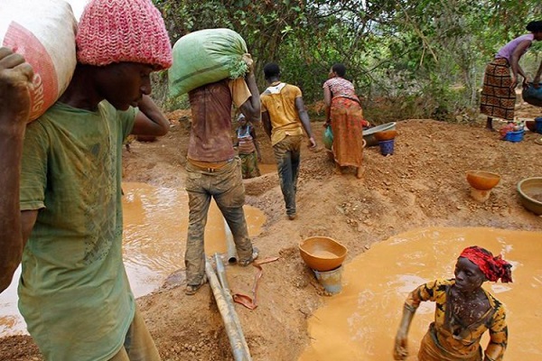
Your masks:
<svg viewBox="0 0 542 361"><path fill-rule="evenodd" d="M480 112L486 116L514 120L515 89L510 89L508 60L499 58L486 67L481 88Z"/></svg>

